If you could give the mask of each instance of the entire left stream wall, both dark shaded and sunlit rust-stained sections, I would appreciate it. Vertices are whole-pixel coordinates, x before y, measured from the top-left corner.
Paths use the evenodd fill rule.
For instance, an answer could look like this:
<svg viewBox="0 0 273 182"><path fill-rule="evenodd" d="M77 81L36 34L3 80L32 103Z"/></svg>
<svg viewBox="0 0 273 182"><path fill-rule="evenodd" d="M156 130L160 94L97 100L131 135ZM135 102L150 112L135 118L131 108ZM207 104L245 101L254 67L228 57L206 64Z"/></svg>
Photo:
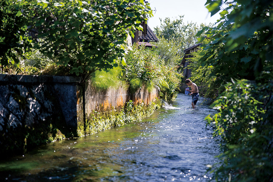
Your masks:
<svg viewBox="0 0 273 182"><path fill-rule="evenodd" d="M98 92L80 77L0 75L0 153L121 126L160 107L157 89Z"/></svg>

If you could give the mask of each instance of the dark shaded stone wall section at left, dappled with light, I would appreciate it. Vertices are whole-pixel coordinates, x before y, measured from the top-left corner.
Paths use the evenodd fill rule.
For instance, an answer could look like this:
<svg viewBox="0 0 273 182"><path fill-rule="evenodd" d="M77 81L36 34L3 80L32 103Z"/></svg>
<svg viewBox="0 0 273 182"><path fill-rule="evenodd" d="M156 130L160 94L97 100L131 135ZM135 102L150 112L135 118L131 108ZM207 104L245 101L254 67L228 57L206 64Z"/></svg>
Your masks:
<svg viewBox="0 0 273 182"><path fill-rule="evenodd" d="M0 153L23 153L73 136L80 78L0 74ZM71 99L70 99L71 98Z"/></svg>

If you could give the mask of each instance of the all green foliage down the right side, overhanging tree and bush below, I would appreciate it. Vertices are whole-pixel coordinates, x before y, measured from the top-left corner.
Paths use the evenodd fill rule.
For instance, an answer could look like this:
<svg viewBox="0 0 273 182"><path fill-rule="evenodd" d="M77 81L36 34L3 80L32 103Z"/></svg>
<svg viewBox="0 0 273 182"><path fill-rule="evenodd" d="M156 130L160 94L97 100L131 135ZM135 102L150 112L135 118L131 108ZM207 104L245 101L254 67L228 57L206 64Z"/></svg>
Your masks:
<svg viewBox="0 0 273 182"><path fill-rule="evenodd" d="M207 0L206 5L213 15L225 2ZM219 113L207 117L215 135L227 141L220 156L224 163L215 175L220 181L273 181L273 3L228 2L217 26L197 34L211 37L201 46L201 66L227 82L212 105Z"/></svg>

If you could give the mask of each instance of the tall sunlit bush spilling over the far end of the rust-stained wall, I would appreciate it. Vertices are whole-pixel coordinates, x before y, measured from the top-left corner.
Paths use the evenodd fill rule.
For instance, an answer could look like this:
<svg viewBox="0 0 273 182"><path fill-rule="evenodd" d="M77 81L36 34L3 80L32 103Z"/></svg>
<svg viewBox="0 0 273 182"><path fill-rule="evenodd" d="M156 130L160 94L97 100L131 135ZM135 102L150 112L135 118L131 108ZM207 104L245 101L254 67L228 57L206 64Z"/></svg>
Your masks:
<svg viewBox="0 0 273 182"><path fill-rule="evenodd" d="M175 67L166 65L157 53L157 50L134 45L125 57L123 78L130 83L131 92L142 85L148 91L157 87L161 97L171 101L177 96L182 74Z"/></svg>

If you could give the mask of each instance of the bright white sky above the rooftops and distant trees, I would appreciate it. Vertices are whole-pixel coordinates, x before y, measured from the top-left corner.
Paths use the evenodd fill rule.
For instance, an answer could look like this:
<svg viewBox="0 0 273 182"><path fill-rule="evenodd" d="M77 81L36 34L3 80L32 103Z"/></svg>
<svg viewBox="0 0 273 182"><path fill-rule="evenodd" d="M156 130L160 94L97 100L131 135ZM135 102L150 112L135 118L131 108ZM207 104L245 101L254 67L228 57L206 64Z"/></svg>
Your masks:
<svg viewBox="0 0 273 182"><path fill-rule="evenodd" d="M211 17L207 8L204 6L207 0L146 0L150 3L150 7L153 11L153 17L148 19L149 27L154 30L154 27L160 26L160 20L162 21L166 17L170 17L171 20L176 19L178 15L184 15L183 21L196 22L197 25L201 23L215 23L220 15L216 13Z"/></svg>

